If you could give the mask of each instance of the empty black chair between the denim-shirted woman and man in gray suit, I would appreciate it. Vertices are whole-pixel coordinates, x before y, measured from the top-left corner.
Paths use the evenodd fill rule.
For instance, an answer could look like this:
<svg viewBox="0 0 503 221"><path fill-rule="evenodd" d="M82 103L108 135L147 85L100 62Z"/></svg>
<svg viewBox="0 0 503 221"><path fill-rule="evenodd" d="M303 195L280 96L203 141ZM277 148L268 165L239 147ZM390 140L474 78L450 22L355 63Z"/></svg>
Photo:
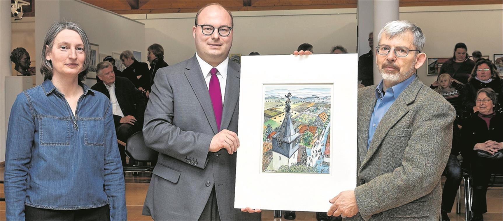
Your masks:
<svg viewBox="0 0 503 221"><path fill-rule="evenodd" d="M126 155L129 159L136 161L137 164L139 164L138 162L143 162L145 164L150 162L151 165L124 166L124 172L152 172L159 153L145 145L143 132L138 131L127 139Z"/></svg>

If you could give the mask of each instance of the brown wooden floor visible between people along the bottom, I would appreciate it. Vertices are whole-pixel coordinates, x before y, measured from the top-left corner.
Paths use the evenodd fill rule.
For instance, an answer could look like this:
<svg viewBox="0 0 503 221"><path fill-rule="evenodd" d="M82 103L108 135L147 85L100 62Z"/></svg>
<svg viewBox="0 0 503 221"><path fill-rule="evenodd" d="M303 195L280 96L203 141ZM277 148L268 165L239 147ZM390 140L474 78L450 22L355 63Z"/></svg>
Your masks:
<svg viewBox="0 0 503 221"><path fill-rule="evenodd" d="M126 205L129 220L152 220L150 216L141 214L143 201L148 189L150 181L149 174L132 175L126 173ZM444 181L444 177L442 179ZM0 184L0 195L4 196L4 186ZM462 192L462 191L461 191ZM463 195L461 195L463 200ZM501 186L493 186L487 189L487 213L484 213L484 220L503 220L503 189ZM461 213L456 214L456 203L449 214L451 220L465 220L463 204L461 205ZM295 220L316 220L315 212L296 212ZM5 220L5 201L0 202L0 220ZM264 210L262 212L262 220L287 220L285 218L274 218L272 210Z"/></svg>

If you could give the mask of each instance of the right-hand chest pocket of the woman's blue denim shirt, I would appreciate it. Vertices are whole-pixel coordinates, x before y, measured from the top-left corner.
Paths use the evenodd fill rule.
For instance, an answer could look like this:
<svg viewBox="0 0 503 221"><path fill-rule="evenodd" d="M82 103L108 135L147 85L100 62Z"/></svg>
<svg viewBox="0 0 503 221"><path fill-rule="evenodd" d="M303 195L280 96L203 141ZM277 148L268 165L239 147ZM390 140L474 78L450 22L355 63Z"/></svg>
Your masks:
<svg viewBox="0 0 503 221"><path fill-rule="evenodd" d="M84 128L84 144L89 146L105 145L105 120L103 117L80 118Z"/></svg>

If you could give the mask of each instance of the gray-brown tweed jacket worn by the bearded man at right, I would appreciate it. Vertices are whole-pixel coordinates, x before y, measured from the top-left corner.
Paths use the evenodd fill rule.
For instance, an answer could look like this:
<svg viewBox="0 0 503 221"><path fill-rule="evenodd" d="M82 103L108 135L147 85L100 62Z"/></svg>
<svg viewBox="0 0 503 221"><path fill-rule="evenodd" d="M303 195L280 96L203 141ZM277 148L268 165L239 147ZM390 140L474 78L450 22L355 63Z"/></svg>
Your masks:
<svg viewBox="0 0 503 221"><path fill-rule="evenodd" d="M456 111L417 78L384 114L367 150L376 86L358 90L359 213L353 220L439 220L440 176Z"/></svg>

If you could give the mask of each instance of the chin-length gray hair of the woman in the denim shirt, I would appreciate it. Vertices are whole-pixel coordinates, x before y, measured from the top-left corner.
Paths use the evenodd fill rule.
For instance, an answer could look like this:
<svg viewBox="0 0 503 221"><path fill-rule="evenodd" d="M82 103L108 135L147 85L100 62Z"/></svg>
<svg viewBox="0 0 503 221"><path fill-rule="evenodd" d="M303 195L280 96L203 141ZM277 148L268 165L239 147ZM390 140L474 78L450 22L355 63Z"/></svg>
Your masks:
<svg viewBox="0 0 503 221"><path fill-rule="evenodd" d="M56 22L49 28L47 34L45 35L44 46L42 47L42 64L40 66L40 73L44 75L44 80L52 79L52 61L47 61L45 57L52 50L54 39L63 30L75 31L76 33L78 33L80 39L82 40L82 43L84 44L84 54L86 55L86 60L84 61L84 64L82 66L82 71L78 73L78 81L83 81L88 74L89 67L91 66L91 44L89 43L86 32L74 22Z"/></svg>

